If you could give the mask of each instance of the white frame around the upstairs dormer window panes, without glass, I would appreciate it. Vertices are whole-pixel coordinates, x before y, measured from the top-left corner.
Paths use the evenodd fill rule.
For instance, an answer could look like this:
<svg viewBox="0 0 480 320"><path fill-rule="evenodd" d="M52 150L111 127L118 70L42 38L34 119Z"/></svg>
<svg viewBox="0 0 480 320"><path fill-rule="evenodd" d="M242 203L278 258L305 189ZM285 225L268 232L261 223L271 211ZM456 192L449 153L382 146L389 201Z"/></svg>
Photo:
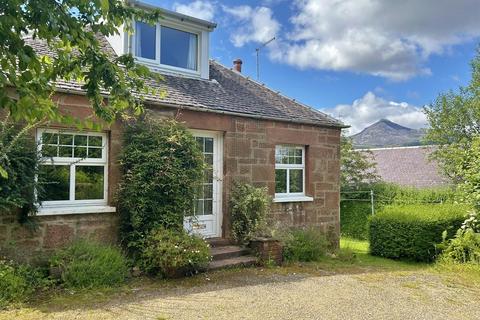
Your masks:
<svg viewBox="0 0 480 320"><path fill-rule="evenodd" d="M143 63L153 69L158 69L160 71L166 71L166 72L173 72L173 73L180 73L180 74L186 74L186 75L189 75L189 76L193 76L193 77L201 77L202 75L202 68L207 68L208 66L203 66L202 65L202 55L205 54L205 52L207 52L206 54L208 55L208 48L207 50L205 50L205 48L203 48L203 46L205 45L204 44L204 34L201 30L198 30L198 29L195 29L195 28L192 28L192 27L189 27L189 26L185 26L181 23L176 23L176 22L173 22L173 21L161 21L161 22L157 22L155 24L155 59L148 59L148 58L144 58L144 57L141 57L141 56L137 56L137 53L136 53L136 48L137 48L137 44L136 44L136 28L137 28L137 24L136 24L136 20L133 21L133 26L134 26L134 33L131 35L130 39L131 39L131 46L130 46L130 52L133 54L133 56L135 57L135 59L137 59L140 63ZM194 34L196 35L197 37L197 52L196 52L196 70L193 70L193 69L188 69L188 68L181 68L181 67L176 67L176 66L172 66L172 65L168 65L168 64L162 64L161 63L161 28L162 27L165 27L165 28L171 28L171 29L175 29L175 30L179 30L179 31L183 31L183 32L187 32L187 33L190 33L190 34Z"/></svg>

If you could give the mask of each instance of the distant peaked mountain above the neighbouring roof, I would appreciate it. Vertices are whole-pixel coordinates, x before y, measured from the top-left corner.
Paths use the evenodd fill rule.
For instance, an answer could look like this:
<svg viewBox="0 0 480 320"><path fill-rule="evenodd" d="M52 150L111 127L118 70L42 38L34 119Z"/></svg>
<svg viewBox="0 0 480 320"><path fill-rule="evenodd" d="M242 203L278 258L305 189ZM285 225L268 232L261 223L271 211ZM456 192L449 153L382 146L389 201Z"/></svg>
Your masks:
<svg viewBox="0 0 480 320"><path fill-rule="evenodd" d="M423 129L411 129L387 119L375 122L351 136L356 148L418 146L425 135Z"/></svg>

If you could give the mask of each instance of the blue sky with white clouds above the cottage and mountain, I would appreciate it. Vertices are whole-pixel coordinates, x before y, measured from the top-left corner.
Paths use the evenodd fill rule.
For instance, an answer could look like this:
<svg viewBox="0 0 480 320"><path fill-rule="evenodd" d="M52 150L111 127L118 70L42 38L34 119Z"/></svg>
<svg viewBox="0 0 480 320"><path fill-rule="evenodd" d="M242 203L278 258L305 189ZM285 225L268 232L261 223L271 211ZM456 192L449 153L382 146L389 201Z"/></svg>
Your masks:
<svg viewBox="0 0 480 320"><path fill-rule="evenodd" d="M144 0L217 23L210 57L340 118L354 134L386 118L426 127L422 108L470 79L480 0Z"/></svg>

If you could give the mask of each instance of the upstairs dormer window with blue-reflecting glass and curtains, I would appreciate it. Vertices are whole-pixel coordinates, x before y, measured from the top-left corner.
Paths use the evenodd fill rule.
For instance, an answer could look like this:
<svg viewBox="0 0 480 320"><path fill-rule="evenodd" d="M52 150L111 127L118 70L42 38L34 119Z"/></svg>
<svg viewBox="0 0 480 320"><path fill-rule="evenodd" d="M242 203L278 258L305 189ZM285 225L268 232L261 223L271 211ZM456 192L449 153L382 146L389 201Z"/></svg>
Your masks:
<svg viewBox="0 0 480 320"><path fill-rule="evenodd" d="M134 55L140 61L178 71L198 72L200 34L135 22Z"/></svg>

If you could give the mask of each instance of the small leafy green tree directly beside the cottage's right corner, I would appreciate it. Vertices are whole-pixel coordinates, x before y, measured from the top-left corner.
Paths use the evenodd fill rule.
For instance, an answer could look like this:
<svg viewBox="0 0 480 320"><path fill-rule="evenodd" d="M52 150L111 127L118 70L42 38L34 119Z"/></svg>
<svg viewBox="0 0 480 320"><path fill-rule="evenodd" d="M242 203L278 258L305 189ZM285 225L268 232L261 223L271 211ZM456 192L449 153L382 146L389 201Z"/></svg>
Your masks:
<svg viewBox="0 0 480 320"><path fill-rule="evenodd" d="M341 138L341 186L342 188L360 188L364 184L376 182L378 175L375 170L373 155L369 150L356 150L352 139Z"/></svg>

